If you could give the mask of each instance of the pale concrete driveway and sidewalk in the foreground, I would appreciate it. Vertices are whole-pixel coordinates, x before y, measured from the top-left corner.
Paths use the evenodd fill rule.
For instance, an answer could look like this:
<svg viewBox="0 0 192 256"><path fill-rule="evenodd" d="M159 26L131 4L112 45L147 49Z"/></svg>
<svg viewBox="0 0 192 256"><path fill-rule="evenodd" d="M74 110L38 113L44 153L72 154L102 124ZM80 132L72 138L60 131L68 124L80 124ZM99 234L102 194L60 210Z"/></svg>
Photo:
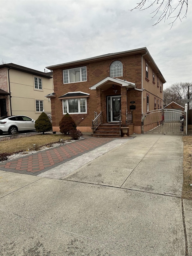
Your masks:
<svg viewBox="0 0 192 256"><path fill-rule="evenodd" d="M192 255L181 136L113 140L39 176L0 171L1 255Z"/></svg>

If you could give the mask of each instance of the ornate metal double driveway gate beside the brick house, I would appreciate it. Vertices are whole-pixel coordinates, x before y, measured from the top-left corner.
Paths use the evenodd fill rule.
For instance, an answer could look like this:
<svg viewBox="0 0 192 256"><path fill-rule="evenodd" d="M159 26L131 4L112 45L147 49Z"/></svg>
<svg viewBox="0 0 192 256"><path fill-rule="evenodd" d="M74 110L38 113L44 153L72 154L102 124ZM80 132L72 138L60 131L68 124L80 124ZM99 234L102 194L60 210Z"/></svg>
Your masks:
<svg viewBox="0 0 192 256"><path fill-rule="evenodd" d="M144 113L142 133L185 134L185 112L175 109L158 109Z"/></svg>

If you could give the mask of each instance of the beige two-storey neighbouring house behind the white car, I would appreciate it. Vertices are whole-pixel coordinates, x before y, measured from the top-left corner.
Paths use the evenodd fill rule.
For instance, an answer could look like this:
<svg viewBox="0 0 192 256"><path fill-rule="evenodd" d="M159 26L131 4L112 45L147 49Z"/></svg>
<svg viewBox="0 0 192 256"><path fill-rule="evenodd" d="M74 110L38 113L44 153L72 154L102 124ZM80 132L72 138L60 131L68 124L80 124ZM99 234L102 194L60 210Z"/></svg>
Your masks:
<svg viewBox="0 0 192 256"><path fill-rule="evenodd" d="M51 113L46 95L53 92L52 72L44 73L13 63L0 65L0 116L25 115L38 119Z"/></svg>

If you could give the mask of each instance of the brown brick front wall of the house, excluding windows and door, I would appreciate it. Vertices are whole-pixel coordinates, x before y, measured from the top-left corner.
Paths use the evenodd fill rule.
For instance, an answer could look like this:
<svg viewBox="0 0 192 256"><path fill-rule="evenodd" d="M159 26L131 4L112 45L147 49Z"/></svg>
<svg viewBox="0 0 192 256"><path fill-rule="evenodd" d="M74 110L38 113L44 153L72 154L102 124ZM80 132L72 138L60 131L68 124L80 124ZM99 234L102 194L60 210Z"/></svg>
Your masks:
<svg viewBox="0 0 192 256"><path fill-rule="evenodd" d="M106 77L110 76L110 65L113 61L119 60L123 64L123 76L119 79L126 79L129 82L135 83L136 87L141 89L141 55L132 55L122 58L109 59L98 61L94 63L87 63L87 81L63 84L62 68L53 70L54 92L56 98L51 98L52 107L52 125L59 126L59 122L63 117L62 114L62 100L58 97L64 95L67 92L81 91L89 93L87 98L87 114L71 114L72 118L76 122L77 126L92 126L92 119L94 119L94 111L98 113L103 112L104 122L107 122L107 104L106 96L112 95L124 95L122 98L122 105L126 109L125 104L130 101L136 101L136 110L133 110L133 117L135 125L141 125L141 92L136 90L126 90L125 87L116 86L117 92L115 94L114 89L110 88L106 91L102 90L90 90L89 87L95 85ZM75 68L84 65L68 66L64 69ZM122 88L122 90L121 90ZM127 99L126 99L127 94ZM129 110L129 108L128 108ZM137 117L139 113L139 118ZM123 113L122 113L123 114ZM83 118L83 119L82 119ZM125 119L125 113L122 116L122 121ZM125 121L125 120L124 120Z"/></svg>

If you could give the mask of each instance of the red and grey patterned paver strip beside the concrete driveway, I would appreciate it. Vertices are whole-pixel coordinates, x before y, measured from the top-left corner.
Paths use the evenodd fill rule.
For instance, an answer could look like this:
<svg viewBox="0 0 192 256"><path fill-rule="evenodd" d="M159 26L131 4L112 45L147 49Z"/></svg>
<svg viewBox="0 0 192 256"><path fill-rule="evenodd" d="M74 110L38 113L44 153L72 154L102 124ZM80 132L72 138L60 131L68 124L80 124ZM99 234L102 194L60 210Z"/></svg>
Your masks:
<svg viewBox="0 0 192 256"><path fill-rule="evenodd" d="M62 144L55 148L14 159L13 161L3 162L0 164L0 170L36 176L114 139L115 138L95 138L90 135L84 135L83 140Z"/></svg>

